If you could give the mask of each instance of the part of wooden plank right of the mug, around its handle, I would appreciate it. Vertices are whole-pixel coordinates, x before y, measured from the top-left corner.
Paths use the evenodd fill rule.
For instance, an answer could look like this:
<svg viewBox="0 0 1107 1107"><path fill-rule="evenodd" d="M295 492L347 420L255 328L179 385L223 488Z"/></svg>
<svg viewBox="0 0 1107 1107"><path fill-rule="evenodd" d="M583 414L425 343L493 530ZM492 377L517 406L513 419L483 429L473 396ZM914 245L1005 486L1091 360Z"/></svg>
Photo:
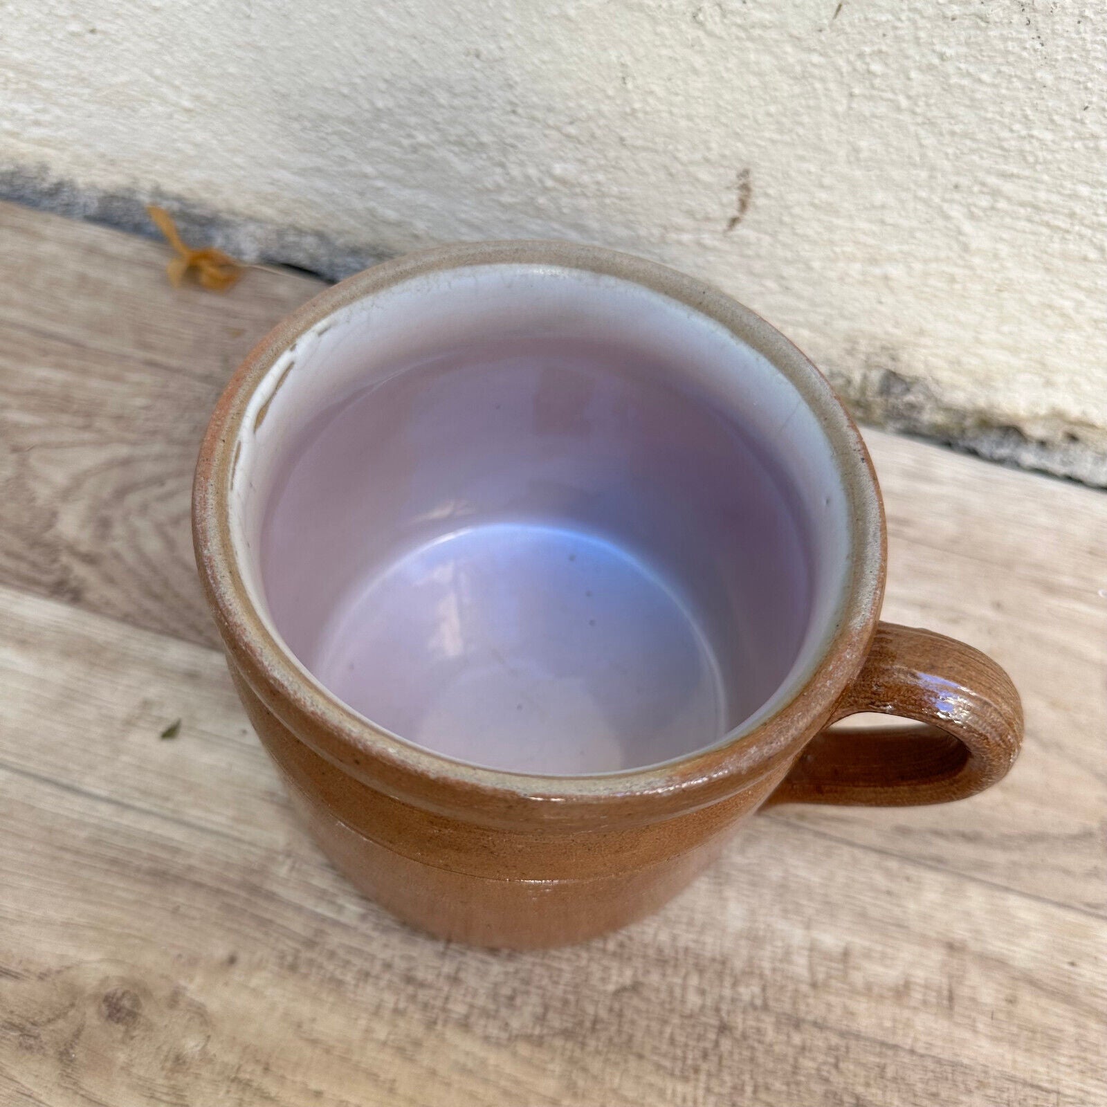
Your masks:
<svg viewBox="0 0 1107 1107"><path fill-rule="evenodd" d="M888 505L884 617L991 653L1026 741L1004 782L960 804L768 817L1107 913L1107 495L866 437Z"/></svg>

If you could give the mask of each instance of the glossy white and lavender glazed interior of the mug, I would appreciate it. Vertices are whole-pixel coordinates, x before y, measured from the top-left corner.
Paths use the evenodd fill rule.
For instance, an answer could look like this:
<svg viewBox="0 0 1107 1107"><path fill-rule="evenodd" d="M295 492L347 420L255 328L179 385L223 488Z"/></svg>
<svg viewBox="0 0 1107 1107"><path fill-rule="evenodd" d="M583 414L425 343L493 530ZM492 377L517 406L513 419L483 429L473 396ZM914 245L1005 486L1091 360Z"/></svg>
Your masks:
<svg viewBox="0 0 1107 1107"><path fill-rule="evenodd" d="M416 277L301 337L231 478L248 590L330 693L469 764L581 775L752 726L849 561L841 480L763 354L550 266Z"/></svg>

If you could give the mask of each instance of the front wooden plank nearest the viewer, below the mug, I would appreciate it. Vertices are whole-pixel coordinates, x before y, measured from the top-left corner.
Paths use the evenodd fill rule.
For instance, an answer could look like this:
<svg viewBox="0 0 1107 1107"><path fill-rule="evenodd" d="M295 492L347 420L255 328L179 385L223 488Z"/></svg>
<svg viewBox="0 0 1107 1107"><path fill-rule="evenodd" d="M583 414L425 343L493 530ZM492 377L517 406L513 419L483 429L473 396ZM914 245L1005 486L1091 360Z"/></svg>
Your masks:
<svg viewBox="0 0 1107 1107"><path fill-rule="evenodd" d="M0 612L6 1103L1107 1096L1094 914L763 818L599 942L433 941L294 828L213 651L8 589Z"/></svg>

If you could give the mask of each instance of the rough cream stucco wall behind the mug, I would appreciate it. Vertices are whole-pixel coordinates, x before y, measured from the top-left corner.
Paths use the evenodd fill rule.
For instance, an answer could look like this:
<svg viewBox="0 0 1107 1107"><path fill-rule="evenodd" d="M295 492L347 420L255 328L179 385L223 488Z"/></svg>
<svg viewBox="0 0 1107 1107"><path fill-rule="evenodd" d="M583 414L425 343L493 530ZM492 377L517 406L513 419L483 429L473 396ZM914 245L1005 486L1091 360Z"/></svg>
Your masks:
<svg viewBox="0 0 1107 1107"><path fill-rule="evenodd" d="M630 249L862 416L1107 483L1105 89L1099 2L8 0L0 192L330 273Z"/></svg>

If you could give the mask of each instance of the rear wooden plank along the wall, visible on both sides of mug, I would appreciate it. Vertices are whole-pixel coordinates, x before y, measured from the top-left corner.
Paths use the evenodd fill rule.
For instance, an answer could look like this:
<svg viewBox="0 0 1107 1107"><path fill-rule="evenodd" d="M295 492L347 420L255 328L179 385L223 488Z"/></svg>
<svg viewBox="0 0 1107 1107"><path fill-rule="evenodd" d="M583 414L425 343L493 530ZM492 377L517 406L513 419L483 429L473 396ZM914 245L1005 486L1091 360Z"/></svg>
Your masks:
<svg viewBox="0 0 1107 1107"><path fill-rule="evenodd" d="M318 282L251 272L228 297L174 290L156 244L12 205L0 227L0 583L216 644L188 534L196 448L232 362ZM1026 752L954 807L772 817L1105 910L1107 755L1090 738L1107 733L1107 496L867 437L888 506L887 617L1006 665Z"/></svg>

